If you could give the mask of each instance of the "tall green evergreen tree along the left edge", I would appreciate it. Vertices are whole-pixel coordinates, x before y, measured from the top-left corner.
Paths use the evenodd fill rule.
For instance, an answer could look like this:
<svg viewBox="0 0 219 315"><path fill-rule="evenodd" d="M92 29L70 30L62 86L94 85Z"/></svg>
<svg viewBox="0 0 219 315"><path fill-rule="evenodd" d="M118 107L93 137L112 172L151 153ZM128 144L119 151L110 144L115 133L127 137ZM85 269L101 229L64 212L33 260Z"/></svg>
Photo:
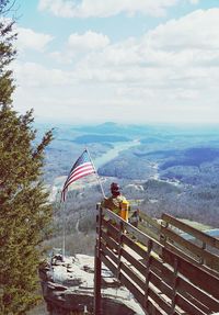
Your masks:
<svg viewBox="0 0 219 315"><path fill-rule="evenodd" d="M13 110L15 57L10 0L0 0L0 314L26 314L36 304L37 267L51 206L42 180L51 132L36 144L33 112Z"/></svg>

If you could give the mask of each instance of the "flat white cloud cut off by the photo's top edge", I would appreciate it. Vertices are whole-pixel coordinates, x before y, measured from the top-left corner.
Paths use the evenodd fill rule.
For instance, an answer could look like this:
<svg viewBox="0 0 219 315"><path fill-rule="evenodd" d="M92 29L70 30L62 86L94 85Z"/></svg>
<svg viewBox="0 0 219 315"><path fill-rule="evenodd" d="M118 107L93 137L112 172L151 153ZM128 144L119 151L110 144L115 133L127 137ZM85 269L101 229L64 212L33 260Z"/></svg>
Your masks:
<svg viewBox="0 0 219 315"><path fill-rule="evenodd" d="M191 0L189 0L191 1ZM178 0L39 0L38 9L62 18L111 16L140 12L152 16L165 14Z"/></svg>

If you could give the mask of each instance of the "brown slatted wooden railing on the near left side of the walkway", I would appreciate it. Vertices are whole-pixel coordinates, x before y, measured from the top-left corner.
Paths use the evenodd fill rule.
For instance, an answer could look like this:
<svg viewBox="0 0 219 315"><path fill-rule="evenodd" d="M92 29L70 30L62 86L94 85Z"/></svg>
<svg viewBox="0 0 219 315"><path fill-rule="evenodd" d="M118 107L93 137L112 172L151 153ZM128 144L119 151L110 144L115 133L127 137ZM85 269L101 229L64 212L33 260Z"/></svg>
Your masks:
<svg viewBox="0 0 219 315"><path fill-rule="evenodd" d="M153 233L145 234L110 210L99 207L97 211L95 315L104 314L101 305L102 262L132 293L145 314L204 315L219 312L217 270L209 272L209 266L203 268L204 263L199 266L188 255L181 255L183 245L180 243L177 249L172 243L169 227L159 227L157 223L153 226L150 222ZM168 220L174 218L163 216L163 221ZM203 241L207 243L207 238ZM214 241L217 247L217 239Z"/></svg>

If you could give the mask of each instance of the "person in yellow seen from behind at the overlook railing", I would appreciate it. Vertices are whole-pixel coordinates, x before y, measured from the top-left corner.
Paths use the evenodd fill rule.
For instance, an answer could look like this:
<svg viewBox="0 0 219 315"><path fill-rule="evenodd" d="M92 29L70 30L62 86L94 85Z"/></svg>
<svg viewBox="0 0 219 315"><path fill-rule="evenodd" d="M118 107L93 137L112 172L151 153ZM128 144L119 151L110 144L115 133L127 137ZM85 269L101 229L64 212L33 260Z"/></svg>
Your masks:
<svg viewBox="0 0 219 315"><path fill-rule="evenodd" d="M110 198L105 198L101 205L103 207L110 209L115 214L119 215L124 220L128 221L128 207L129 203L124 195L120 193L120 188L116 182L112 182L111 184L111 193Z"/></svg>

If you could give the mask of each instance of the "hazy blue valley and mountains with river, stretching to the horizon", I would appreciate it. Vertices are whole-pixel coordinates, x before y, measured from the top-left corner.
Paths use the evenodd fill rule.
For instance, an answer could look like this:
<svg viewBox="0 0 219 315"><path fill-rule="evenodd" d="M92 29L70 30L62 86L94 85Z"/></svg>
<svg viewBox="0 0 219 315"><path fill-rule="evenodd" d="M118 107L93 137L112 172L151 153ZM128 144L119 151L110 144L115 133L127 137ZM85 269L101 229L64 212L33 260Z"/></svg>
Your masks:
<svg viewBox="0 0 219 315"><path fill-rule="evenodd" d="M48 127L36 126L39 134ZM57 178L68 175L88 147L99 175L105 179L105 189L114 178L130 200L138 200L140 207L152 215L169 212L219 226L218 126L108 122L59 125L54 135L45 167L45 181L50 187ZM95 201L95 189L85 188L87 201Z"/></svg>

